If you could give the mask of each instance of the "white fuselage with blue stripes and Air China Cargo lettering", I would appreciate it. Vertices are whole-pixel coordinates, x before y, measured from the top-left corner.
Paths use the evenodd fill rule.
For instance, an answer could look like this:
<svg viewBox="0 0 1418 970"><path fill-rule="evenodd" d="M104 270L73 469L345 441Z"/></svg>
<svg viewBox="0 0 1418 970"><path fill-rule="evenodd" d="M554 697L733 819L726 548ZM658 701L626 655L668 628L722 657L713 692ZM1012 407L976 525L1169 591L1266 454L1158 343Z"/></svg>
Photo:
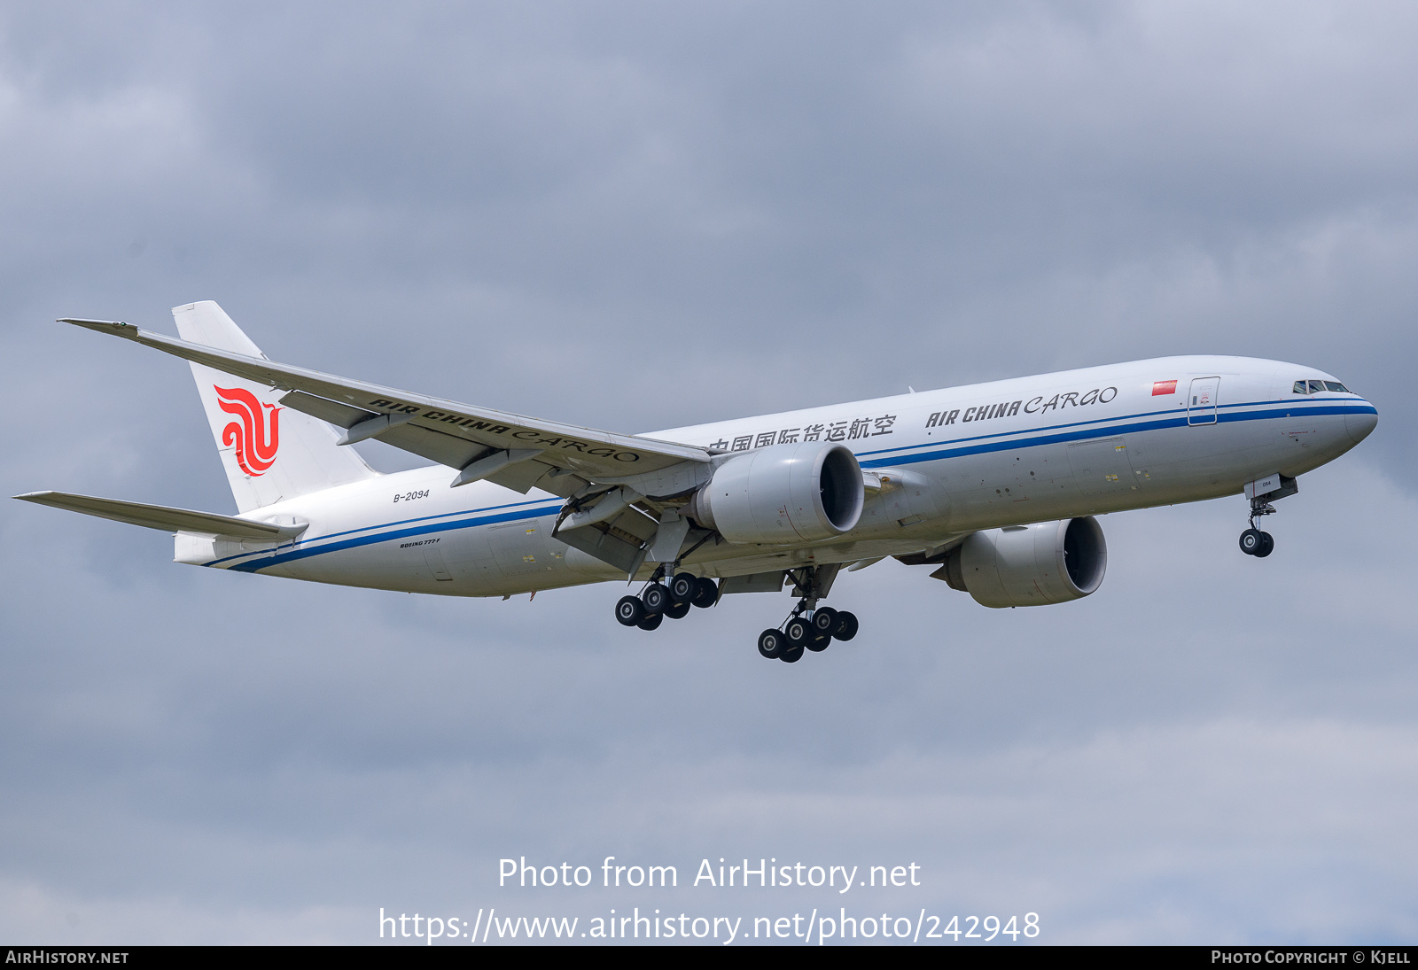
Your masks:
<svg viewBox="0 0 1418 970"><path fill-rule="evenodd" d="M1357 394L1292 391L1296 380L1326 377L1333 380L1251 357L1164 357L649 437L735 451L842 441L864 471L889 479L868 494L847 535L798 546L706 543L683 562L700 576L740 576L906 554L980 529L1193 502L1239 494L1276 472L1297 476L1353 448L1377 423L1374 406ZM491 482L450 488L452 476L434 465L271 505L245 518L308 522L294 543L179 533L176 557L448 596L624 579L552 537L563 499Z"/></svg>

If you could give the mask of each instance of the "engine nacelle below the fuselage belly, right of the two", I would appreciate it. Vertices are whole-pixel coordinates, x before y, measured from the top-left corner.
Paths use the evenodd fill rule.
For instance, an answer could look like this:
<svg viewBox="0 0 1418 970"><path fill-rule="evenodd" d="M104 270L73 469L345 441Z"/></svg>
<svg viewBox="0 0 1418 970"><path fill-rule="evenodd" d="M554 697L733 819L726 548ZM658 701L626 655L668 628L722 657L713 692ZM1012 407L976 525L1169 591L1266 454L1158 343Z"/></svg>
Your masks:
<svg viewBox="0 0 1418 970"><path fill-rule="evenodd" d="M1098 519L976 532L933 576L987 607L1066 603L1103 584L1107 543Z"/></svg>

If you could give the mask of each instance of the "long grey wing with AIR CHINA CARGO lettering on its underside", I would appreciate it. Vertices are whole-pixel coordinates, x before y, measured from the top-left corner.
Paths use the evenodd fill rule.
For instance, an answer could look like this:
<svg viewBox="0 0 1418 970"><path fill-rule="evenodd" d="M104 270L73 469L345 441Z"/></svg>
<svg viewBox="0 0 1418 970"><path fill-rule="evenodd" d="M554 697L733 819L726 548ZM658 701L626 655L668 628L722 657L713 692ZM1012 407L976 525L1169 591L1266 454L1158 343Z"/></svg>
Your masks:
<svg viewBox="0 0 1418 970"><path fill-rule="evenodd" d="M323 374L265 357L189 343L140 330L130 323L72 318L62 318L60 322L121 336L223 373L285 390L288 393L281 403L286 407L345 428L342 444L377 438L461 469L454 479L455 485L488 478L520 492L536 484L557 495L571 495L586 484L617 484L651 474L651 479L658 484L655 494L669 494L676 491L672 485L681 479L686 485L699 484L695 467L708 464L712 454L705 448L672 441L543 421ZM675 465L682 468L675 469ZM651 494L649 488L637 491Z"/></svg>

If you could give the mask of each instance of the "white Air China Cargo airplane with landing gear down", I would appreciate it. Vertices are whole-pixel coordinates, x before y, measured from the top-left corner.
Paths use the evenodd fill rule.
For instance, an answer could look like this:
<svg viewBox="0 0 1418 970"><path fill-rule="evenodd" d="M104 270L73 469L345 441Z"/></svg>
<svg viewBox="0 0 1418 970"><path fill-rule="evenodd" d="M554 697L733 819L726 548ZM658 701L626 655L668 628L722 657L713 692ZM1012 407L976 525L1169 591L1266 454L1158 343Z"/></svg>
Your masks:
<svg viewBox="0 0 1418 970"><path fill-rule="evenodd" d="M183 339L64 319L191 363L237 515L33 492L17 498L176 533L179 563L445 596L615 579L657 628L727 593L800 597L759 637L794 662L851 640L818 606L886 556L987 607L1089 596L1093 518L1244 494L1241 549L1296 478L1364 440L1378 411L1333 376L1252 357L1161 357L647 435L596 431L274 363L214 302ZM383 475L377 438L435 465Z"/></svg>

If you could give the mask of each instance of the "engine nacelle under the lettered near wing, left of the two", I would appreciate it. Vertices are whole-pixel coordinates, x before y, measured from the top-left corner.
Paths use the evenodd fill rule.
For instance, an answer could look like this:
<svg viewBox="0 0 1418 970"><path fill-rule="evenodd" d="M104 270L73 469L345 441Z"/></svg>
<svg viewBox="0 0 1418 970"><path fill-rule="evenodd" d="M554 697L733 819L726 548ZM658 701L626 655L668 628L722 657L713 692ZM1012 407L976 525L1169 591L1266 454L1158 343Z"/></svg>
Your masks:
<svg viewBox="0 0 1418 970"><path fill-rule="evenodd" d="M791 545L851 532L865 498L851 448L800 441L723 462L685 513L733 543Z"/></svg>

